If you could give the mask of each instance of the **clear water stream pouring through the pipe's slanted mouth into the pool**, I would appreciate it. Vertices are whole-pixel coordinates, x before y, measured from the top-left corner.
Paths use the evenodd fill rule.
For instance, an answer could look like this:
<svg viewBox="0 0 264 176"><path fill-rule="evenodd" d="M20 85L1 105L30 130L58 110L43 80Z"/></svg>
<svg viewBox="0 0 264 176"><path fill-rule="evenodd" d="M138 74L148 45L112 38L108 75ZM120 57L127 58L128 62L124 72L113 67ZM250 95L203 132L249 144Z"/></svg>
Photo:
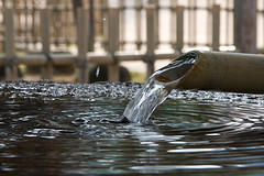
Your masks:
<svg viewBox="0 0 264 176"><path fill-rule="evenodd" d="M134 123L147 123L157 106L163 103L178 80L191 68L196 53L187 53L155 72L128 103L123 116Z"/></svg>

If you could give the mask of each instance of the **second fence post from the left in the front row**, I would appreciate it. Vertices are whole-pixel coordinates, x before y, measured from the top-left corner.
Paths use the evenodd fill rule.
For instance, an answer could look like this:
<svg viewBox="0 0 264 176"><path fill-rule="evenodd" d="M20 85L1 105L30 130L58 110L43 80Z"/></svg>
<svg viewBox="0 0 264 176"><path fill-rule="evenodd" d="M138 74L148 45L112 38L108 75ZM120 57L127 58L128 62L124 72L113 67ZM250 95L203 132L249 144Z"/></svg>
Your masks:
<svg viewBox="0 0 264 176"><path fill-rule="evenodd" d="M51 11L42 9L41 11L41 29L42 29L42 52L46 56L46 64L42 67L42 79L53 78L53 62L50 55L51 48Z"/></svg>

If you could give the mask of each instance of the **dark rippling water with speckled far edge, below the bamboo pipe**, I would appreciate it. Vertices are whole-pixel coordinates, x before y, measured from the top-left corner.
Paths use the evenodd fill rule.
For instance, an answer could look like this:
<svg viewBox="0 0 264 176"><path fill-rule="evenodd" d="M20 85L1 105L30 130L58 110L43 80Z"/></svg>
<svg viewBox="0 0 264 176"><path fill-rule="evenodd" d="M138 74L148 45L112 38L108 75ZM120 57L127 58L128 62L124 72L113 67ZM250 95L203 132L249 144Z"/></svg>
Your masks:
<svg viewBox="0 0 264 176"><path fill-rule="evenodd" d="M0 84L0 175L264 175L264 95L173 90L111 123L140 84Z"/></svg>

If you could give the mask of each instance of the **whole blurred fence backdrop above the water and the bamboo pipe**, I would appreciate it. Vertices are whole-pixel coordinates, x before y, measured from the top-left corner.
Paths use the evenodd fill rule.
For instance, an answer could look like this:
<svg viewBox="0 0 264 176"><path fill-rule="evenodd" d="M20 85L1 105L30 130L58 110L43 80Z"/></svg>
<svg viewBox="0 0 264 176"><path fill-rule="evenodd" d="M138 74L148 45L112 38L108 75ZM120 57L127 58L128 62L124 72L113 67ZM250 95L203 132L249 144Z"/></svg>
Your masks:
<svg viewBox="0 0 264 176"><path fill-rule="evenodd" d="M264 0L1 0L1 80L144 81L191 50L263 53Z"/></svg>

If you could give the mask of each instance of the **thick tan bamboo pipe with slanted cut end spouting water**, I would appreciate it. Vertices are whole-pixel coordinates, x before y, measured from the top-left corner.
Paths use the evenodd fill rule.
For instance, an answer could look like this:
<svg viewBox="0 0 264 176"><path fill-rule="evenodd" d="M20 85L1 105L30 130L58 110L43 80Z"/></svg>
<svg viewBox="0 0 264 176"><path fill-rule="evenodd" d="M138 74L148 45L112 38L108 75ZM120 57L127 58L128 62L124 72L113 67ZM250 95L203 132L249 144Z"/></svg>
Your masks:
<svg viewBox="0 0 264 176"><path fill-rule="evenodd" d="M176 62L182 66L173 67ZM194 51L173 63L154 75L155 81L183 89L264 92L264 55Z"/></svg>

